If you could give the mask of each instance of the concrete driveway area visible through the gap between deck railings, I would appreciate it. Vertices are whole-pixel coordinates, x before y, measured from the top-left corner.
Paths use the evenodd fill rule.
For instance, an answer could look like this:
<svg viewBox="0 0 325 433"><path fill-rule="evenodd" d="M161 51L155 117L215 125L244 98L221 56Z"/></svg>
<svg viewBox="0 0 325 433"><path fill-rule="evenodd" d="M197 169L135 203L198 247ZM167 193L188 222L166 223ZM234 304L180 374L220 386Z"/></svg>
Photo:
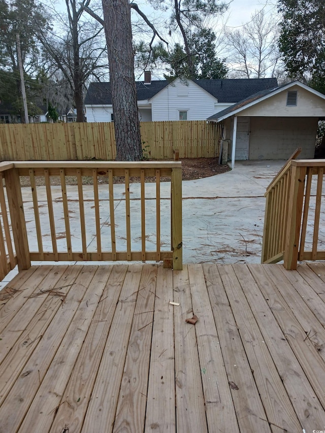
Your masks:
<svg viewBox="0 0 325 433"><path fill-rule="evenodd" d="M210 178L183 182L184 262L260 263L264 193L285 161L236 161Z"/></svg>

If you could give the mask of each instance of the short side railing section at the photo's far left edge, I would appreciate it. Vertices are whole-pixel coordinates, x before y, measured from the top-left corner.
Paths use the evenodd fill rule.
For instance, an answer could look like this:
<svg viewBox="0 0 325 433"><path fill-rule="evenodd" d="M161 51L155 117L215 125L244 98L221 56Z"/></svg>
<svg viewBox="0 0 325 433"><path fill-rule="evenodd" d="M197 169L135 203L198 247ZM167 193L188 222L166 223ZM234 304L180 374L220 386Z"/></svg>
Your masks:
<svg viewBox="0 0 325 433"><path fill-rule="evenodd" d="M0 164L2 165L2 164ZM13 164L6 164L7 169L13 167ZM4 171L3 171L4 169ZM12 239L10 213L6 201L6 192L4 188L4 173L6 168L0 168L0 280L15 268L17 256Z"/></svg>

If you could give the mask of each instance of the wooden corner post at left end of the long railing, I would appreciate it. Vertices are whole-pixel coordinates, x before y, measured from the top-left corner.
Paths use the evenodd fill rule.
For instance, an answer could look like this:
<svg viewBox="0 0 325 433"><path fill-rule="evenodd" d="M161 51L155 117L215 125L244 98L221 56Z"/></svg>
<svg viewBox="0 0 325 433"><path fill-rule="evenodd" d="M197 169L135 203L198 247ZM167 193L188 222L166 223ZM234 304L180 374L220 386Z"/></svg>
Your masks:
<svg viewBox="0 0 325 433"><path fill-rule="evenodd" d="M4 175L18 270L22 271L30 268L30 257L18 170L7 170Z"/></svg>

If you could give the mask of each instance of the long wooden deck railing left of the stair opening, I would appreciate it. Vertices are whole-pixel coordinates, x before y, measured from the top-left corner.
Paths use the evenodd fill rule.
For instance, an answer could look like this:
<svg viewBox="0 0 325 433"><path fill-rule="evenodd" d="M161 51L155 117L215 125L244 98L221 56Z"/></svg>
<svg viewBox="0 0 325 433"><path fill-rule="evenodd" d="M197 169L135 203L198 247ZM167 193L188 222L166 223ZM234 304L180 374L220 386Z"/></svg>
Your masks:
<svg viewBox="0 0 325 433"><path fill-rule="evenodd" d="M0 165L19 269L28 269L30 260L163 260L182 269L181 162ZM20 186L21 176L30 187ZM68 185L67 176L76 185ZM115 177L123 184L115 184ZM154 184L146 183L147 177ZM134 178L139 183L131 183ZM161 192L161 178L170 178L167 195L166 187ZM91 185L85 187L85 180ZM117 207L123 209L117 212Z"/></svg>

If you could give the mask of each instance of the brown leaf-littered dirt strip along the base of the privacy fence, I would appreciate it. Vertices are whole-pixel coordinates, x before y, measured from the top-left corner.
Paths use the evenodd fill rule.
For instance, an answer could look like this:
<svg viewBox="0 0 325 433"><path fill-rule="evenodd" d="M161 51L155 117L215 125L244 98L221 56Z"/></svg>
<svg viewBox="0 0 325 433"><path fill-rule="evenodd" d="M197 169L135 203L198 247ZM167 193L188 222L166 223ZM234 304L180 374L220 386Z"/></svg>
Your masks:
<svg viewBox="0 0 325 433"><path fill-rule="evenodd" d="M218 158L183 158L180 159L182 162L182 178L183 180L193 180L193 179L201 179L205 177L215 176L220 173L225 173L230 170L228 165L220 165L218 164ZM44 185L44 178L37 177L36 185L41 186ZM154 182L155 178L147 178L147 182ZM170 178L161 178L161 181L170 181ZM139 182L139 178L130 178L130 182ZM30 186L29 177L21 177L20 178L21 186ZM66 177L67 185L76 185L77 178L76 176L67 176ZM92 177L85 176L83 179L84 184L91 185ZM101 184L108 183L107 177L101 177ZM114 183L124 183L124 178L114 178ZM51 177L51 185L60 185L59 177Z"/></svg>

